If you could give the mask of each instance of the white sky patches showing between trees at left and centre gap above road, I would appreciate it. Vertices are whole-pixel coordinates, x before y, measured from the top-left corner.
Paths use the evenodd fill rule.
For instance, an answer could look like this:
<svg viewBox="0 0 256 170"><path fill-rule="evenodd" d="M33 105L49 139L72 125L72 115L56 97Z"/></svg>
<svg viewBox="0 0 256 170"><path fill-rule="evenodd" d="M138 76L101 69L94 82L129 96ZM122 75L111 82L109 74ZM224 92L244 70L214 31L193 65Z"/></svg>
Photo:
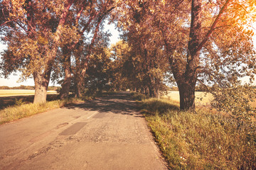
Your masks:
<svg viewBox="0 0 256 170"><path fill-rule="evenodd" d="M110 45L115 44L119 40L119 31L115 28L114 24L105 25L105 31L110 30L110 33L112 36L110 37ZM6 49L6 45L3 45L0 40L0 52L2 52L4 49ZM0 77L0 86L34 86L33 79L27 79L23 82L18 82L18 79L20 77L20 73L16 73L17 75L11 74L9 76L9 79L4 79L3 77ZM54 82L50 81L49 86L60 86L60 84L53 84Z"/></svg>

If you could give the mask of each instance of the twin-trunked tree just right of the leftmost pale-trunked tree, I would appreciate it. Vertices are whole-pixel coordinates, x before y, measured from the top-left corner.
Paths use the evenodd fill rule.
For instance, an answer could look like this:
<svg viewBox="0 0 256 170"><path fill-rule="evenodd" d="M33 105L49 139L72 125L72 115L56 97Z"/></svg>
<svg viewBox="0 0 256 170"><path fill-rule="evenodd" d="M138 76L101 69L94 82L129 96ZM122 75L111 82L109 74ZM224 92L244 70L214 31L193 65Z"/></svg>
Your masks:
<svg viewBox="0 0 256 170"><path fill-rule="evenodd" d="M111 0L88 1L85 4L77 4L77 6L73 8L74 16L67 25L78 27L77 32L80 35L80 39L75 42L66 41L62 47L63 58L61 60L63 62L65 79L62 84L60 98L68 97L71 79L74 79L76 86L75 96L81 96L82 81L85 77L87 64L93 50L92 48L95 42L97 42L97 36L100 35L100 31L102 30L100 27L104 19L113 8L114 1ZM84 11L85 9L86 11ZM93 34L93 37L88 42L91 34ZM72 56L75 60L75 64L73 65L70 62Z"/></svg>

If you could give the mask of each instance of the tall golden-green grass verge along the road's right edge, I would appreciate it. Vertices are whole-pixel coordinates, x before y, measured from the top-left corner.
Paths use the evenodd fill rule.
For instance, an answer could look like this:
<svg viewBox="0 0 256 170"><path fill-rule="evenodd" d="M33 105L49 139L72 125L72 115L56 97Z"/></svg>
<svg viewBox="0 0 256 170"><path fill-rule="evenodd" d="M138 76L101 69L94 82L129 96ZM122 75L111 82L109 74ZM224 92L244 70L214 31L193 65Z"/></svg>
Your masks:
<svg viewBox="0 0 256 170"><path fill-rule="evenodd" d="M252 126L208 108L182 112L168 99L140 104L170 169L256 169Z"/></svg>

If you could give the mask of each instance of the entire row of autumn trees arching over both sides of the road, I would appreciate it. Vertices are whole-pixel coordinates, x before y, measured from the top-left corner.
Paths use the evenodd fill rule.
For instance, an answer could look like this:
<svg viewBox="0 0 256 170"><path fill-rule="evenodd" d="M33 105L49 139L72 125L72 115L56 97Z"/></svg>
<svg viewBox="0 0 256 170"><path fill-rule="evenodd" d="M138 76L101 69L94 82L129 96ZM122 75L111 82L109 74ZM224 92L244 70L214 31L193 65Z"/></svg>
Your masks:
<svg viewBox="0 0 256 170"><path fill-rule="evenodd" d="M50 79L61 79L61 98L70 90L79 97L89 86L129 86L159 97L171 82L182 110L195 111L200 85L220 108L235 109L220 103L228 103L231 91L247 96L246 112L255 94L239 79L254 80L255 6L254 0L3 0L0 33L8 49L1 70L33 77L34 103L46 102ZM122 30L111 48L105 21Z"/></svg>

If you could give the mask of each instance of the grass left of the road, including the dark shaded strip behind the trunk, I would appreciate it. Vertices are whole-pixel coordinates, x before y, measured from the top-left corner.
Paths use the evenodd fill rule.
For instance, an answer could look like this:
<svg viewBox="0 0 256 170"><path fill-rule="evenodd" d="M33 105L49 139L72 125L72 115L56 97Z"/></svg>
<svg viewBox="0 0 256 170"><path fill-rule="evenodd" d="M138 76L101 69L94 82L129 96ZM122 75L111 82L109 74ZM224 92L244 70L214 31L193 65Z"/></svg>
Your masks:
<svg viewBox="0 0 256 170"><path fill-rule="evenodd" d="M67 100L58 100L57 94L48 94L45 104L33 104L33 96L3 97L0 98L0 125L73 103L81 103L95 97L110 96L111 94L113 93L104 92L96 96L82 96L82 98L69 98Z"/></svg>

